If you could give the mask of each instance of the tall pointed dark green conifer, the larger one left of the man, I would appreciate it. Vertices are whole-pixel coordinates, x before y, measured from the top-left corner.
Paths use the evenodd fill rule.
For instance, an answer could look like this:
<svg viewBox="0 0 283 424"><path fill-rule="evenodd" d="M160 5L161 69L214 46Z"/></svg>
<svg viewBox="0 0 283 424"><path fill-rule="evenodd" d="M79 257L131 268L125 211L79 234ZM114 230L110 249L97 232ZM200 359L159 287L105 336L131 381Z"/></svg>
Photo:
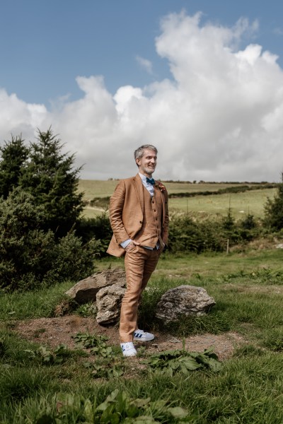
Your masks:
<svg viewBox="0 0 283 424"><path fill-rule="evenodd" d="M81 168L72 170L74 155L62 153L62 148L51 129L39 130L20 180L23 190L33 194L35 205L44 207L42 229L57 237L71 230L83 210L83 194L77 193Z"/></svg>

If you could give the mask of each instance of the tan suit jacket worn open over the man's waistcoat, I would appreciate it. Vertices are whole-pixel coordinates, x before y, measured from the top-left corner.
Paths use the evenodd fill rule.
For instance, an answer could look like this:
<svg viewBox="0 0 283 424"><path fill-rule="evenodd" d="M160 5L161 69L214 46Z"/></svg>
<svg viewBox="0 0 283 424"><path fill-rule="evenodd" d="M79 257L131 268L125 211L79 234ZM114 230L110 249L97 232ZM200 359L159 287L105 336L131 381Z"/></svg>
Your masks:
<svg viewBox="0 0 283 424"><path fill-rule="evenodd" d="M163 213L161 237L163 243L168 242L168 193L167 190L158 187L160 184L156 181L155 190L160 190ZM113 230L112 239L107 252L116 257L122 257L125 249L120 243L132 239L141 230L143 222L144 205L144 186L141 177L137 174L135 177L121 179L117 184L114 194L110 198L110 223Z"/></svg>

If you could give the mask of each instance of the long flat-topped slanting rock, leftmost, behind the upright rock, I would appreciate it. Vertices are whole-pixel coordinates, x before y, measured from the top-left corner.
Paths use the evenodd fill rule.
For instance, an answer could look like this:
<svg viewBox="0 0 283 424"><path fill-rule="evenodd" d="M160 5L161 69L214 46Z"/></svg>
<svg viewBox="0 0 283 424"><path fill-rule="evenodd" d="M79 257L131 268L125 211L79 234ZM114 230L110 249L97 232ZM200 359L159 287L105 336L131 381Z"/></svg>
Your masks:
<svg viewBox="0 0 283 424"><path fill-rule="evenodd" d="M79 281L66 292L69 298L74 299L77 303L95 302L96 295L101 288L110 285L126 286L126 275L122 269L106 269L96 272L88 278Z"/></svg>

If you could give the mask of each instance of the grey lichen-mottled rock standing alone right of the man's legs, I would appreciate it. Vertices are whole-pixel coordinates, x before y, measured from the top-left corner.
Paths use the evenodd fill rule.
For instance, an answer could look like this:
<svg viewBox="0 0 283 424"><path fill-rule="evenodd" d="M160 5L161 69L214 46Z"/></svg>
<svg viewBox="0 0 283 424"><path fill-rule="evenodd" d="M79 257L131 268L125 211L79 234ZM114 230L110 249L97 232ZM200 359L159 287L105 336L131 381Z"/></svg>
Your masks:
<svg viewBox="0 0 283 424"><path fill-rule="evenodd" d="M204 288L179 285L163 294L156 307L156 317L168 324L178 321L182 315L204 315L214 305L214 298Z"/></svg>

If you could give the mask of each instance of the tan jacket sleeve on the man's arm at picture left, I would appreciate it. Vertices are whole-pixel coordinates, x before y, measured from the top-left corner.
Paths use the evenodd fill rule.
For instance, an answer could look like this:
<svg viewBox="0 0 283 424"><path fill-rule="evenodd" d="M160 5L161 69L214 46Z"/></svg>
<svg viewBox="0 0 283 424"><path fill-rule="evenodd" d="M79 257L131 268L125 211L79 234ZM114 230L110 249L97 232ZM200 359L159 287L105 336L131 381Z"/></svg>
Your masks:
<svg viewBox="0 0 283 424"><path fill-rule="evenodd" d="M111 228L118 245L125 242L130 237L125 230L125 225L122 220L122 213L125 204L125 182L122 180L117 184L115 192L110 197L109 218Z"/></svg>

